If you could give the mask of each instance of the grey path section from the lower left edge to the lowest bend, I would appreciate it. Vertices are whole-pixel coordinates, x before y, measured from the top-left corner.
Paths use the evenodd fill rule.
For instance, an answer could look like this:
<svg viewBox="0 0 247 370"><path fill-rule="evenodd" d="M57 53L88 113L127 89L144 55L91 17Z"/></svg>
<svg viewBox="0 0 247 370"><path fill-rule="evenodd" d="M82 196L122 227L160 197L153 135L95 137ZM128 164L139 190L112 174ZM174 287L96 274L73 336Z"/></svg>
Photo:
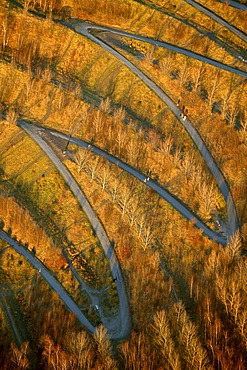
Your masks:
<svg viewBox="0 0 247 370"><path fill-rule="evenodd" d="M91 333L94 332L94 326L88 321L88 319L83 315L77 304L69 296L63 286L57 281L54 276L49 272L49 270L29 252L22 245L20 245L16 240L12 239L7 233L0 230L0 238L5 240L11 247L13 247L16 252L21 254L31 265L40 271L40 274L45 278L48 284L57 292L62 301L68 307L68 309L75 314L80 323Z"/></svg>

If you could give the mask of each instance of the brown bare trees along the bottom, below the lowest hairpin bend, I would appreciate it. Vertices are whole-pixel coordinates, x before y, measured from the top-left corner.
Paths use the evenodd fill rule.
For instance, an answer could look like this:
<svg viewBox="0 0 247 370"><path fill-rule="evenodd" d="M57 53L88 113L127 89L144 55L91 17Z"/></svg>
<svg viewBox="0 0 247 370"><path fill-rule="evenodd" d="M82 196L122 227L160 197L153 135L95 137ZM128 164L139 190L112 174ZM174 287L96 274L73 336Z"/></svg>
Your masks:
<svg viewBox="0 0 247 370"><path fill-rule="evenodd" d="M169 300L165 299L164 295L166 289L164 290L165 287L163 287L159 307L162 307L162 302L164 305L165 300L165 308L154 314L151 322L146 323L146 315L150 315L150 304L146 311L145 305L142 306L144 302L142 301L143 293L140 293L140 288L141 279L146 281L147 271L145 270L148 269L148 264L145 269L138 264L137 276L141 276L140 280L135 282L135 293L139 292L138 304L143 308L141 317L144 321L134 321L134 326L137 328L139 325L143 325L146 329L134 331L129 341L118 346L118 362L116 362L116 359L113 360L109 341L107 341L105 333L101 329L99 329L100 333L97 332L97 335L100 334L103 348L100 347L101 351L98 353L95 347L99 340L97 335L94 339L95 343L85 333L76 334L77 329L75 330L71 320L69 320L70 328L66 329L63 325L64 330L62 332L61 330L58 331L59 326L54 328L54 325L57 326L60 317L64 320L65 312L62 316L59 315L58 302L55 305L53 304L51 312L45 314L46 320L42 319L41 325L38 326L39 333L46 333L44 334L46 337L40 337L36 333L37 337L40 338L39 348L43 351L42 366L45 366L45 368L54 366L54 368L59 369L63 364L66 369L72 366L73 363L75 368L80 368L82 361L84 361L85 368L90 368L90 366L97 363L98 366L105 366L105 369L110 369L110 366L118 368L119 364L123 364L126 369L132 367L135 369L156 369L158 367L168 367L170 369L231 369L233 366L244 369L246 296L242 295L241 290L243 290L246 276L243 259L239 252L240 243L238 237L236 237L229 245L229 250L219 250L217 254L212 253L210 255L203 267L203 275L194 275L194 279L191 279L189 294L191 302L194 303L193 305L190 304L189 310L181 302L175 304L170 302L169 304ZM133 254L136 258L136 253ZM150 257L149 254L149 261L151 260ZM143 256L139 255L139 261L140 258L143 259ZM152 263L154 267L155 260L152 260ZM222 280L222 269L229 271L229 267L231 269L230 286L228 280L225 281L225 284L217 283L216 289L212 289L215 279ZM131 274L130 271L129 274ZM153 281L154 277L156 289L161 288L162 279L159 280L157 273L154 275L154 271L152 271L151 279ZM198 279L203 280L203 286L202 281ZM236 283L237 285L235 285ZM152 284L151 280L149 284ZM45 307L47 312L47 303L41 302L40 296L38 300L35 299L37 290L37 288L28 289L28 294L32 294L32 298L28 301L32 306L31 312L33 314L37 313L35 304L39 305L39 309ZM149 303L152 302L153 297L147 291L147 287L146 293L147 300ZM167 294L169 293L167 292ZM45 293L44 287L42 297L51 300L48 292ZM237 297L241 297L241 301ZM54 301L54 298L53 296L52 301ZM54 314L56 312L56 320L52 312ZM37 320L39 318L35 317L34 322L37 323ZM235 325L236 322L239 325ZM44 323L48 323L48 325L44 326ZM74 334L70 331L71 328L75 330ZM57 333L56 338L60 343L59 345L51 339L54 333ZM151 337L153 340L151 340Z"/></svg>

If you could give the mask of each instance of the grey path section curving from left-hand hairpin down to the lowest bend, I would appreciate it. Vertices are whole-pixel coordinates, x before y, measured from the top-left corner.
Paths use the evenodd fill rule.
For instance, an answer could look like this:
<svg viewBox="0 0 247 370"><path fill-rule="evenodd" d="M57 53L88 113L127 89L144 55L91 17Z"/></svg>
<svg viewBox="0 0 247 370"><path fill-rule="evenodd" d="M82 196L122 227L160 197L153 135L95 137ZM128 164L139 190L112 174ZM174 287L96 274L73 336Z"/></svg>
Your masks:
<svg viewBox="0 0 247 370"><path fill-rule="evenodd" d="M21 122L19 121L18 126L25 130L50 158L50 160L53 162L57 170L64 178L65 182L68 184L72 193L75 195L85 214L87 215L102 245L104 253L109 260L112 275L114 276L114 278L116 278L116 288L119 299L119 308L117 316L104 317L103 312L100 309L99 313L102 319L102 323L106 327L111 339L123 339L127 337L130 334L131 329L128 297L117 257L100 220L94 213L93 208L89 204L86 196L78 186L77 182L75 181L71 173L67 170L67 168L65 168L65 166L62 164L62 162L56 156L56 154L53 152L50 146L41 138L41 136L37 132L37 129L33 125L28 124L24 121ZM85 289L87 288L85 287ZM90 291L87 290L87 293L92 298L91 290Z"/></svg>

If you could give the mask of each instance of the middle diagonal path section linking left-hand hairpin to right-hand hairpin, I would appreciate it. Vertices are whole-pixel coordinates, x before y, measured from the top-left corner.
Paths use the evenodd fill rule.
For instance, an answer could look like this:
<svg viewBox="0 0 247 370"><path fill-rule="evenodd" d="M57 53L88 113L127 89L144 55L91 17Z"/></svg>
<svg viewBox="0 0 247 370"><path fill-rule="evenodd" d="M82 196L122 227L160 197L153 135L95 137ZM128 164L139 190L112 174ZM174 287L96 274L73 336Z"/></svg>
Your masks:
<svg viewBox="0 0 247 370"><path fill-rule="evenodd" d="M167 189L159 185L155 180L152 180L151 178L149 181L145 181L146 175L135 169L134 167L128 165L127 163L123 162L119 158L115 157L112 154L109 154L108 152L104 151L103 149L98 148L97 146L84 141L77 139L75 137L66 135L62 132L48 129L48 128L42 128L38 126L32 125L32 127L36 127L37 130L44 130L49 131L49 133L55 137L59 137L60 139L64 139L66 141L70 141L71 143L74 143L80 147L83 147L85 149L89 149L90 145L90 151L104 157L109 162L117 165L119 168L124 170L125 172L128 172L130 175L134 176L136 179L138 179L141 182L144 182L146 186L153 189L157 194L159 194L163 199L165 199L168 203L170 203L182 216L187 218L189 221L193 222L193 224L198 227L200 230L204 232L205 235L207 235L210 239L217 241L218 243L222 245L226 245L226 239L222 237L222 235L218 234L216 231L211 230L207 225L205 225L198 216L196 216L192 211L190 211L179 199L177 199L174 195L172 195Z"/></svg>

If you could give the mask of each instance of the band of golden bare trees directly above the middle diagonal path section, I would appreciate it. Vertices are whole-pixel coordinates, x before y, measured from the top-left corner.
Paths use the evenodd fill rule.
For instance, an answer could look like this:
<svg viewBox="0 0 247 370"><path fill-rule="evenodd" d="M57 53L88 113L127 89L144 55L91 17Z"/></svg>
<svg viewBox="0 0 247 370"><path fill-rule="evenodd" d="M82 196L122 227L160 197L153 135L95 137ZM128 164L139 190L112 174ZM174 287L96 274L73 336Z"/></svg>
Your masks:
<svg viewBox="0 0 247 370"><path fill-rule="evenodd" d="M171 184L171 190L176 195L189 203L196 212L199 211L202 218L210 220L220 197L218 190L213 187L213 183L209 183L211 181L209 175L204 172L203 162L198 161L198 155L193 149L192 143L189 140L185 143L182 137L183 132L180 132L179 128L174 130L174 126L171 125L171 122L169 123L170 115L167 114L165 119L171 127L168 131L168 126L166 126L167 132L164 134L162 134L161 129L160 133L156 133L156 130L152 129L139 129L137 127L138 123L129 117L129 124L126 126L126 112L122 107L112 110L109 100L102 100L99 110L92 109L92 107L85 110L76 96L69 95L62 89L52 87L45 77L44 74L41 75L41 79L29 76L26 80L17 101L18 111L21 114L30 111L40 101L39 96L42 91L47 89L50 99L47 101L46 108L43 102L44 116L42 121L54 117L65 122L65 119L68 121L69 118L71 134L82 136L89 141L93 138L96 144L123 158L131 165L140 168L143 172L151 170L153 177L157 177L161 183ZM5 79L2 80L2 85L4 83ZM80 95L80 92L78 91L76 94ZM9 98L7 91L3 99L7 102ZM14 115L13 110L9 111L7 117L11 121L10 115L11 117ZM117 127L116 136L115 130ZM181 147L176 144L178 135L181 137ZM184 153L185 146L187 150L190 148L188 154ZM90 156L90 153L83 151L77 154L76 160L79 168L84 165L88 156ZM99 164L98 159L95 167L92 168L92 178L94 178ZM171 168L171 164L174 169ZM106 181L106 178L109 177L106 170L104 176ZM176 178L175 181L174 178ZM187 188L186 192L181 192L184 181L190 191ZM207 202L200 202L202 190L205 199L208 199Z"/></svg>

